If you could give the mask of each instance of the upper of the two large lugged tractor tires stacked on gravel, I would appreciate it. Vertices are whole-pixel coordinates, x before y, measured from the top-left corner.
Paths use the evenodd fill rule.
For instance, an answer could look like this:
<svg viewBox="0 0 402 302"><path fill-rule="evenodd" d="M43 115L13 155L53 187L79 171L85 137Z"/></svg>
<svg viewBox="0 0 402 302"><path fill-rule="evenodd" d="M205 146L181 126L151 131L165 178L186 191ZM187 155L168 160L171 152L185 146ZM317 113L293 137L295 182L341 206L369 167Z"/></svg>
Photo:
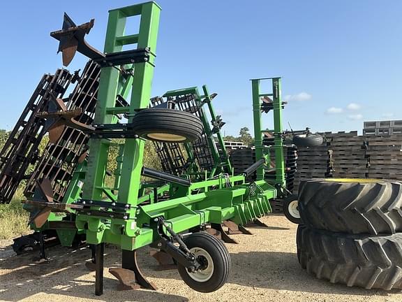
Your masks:
<svg viewBox="0 0 402 302"><path fill-rule="evenodd" d="M344 233L402 231L402 183L394 180L324 178L302 181L301 221L311 229Z"/></svg>

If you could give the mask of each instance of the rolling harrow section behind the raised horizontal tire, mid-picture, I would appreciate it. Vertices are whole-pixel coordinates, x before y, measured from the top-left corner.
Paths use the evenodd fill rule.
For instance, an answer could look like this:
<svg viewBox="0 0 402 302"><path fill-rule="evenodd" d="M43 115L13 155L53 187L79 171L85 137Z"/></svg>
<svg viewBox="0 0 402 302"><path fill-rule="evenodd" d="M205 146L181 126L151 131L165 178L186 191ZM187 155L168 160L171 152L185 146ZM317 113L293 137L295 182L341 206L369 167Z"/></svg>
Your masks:
<svg viewBox="0 0 402 302"><path fill-rule="evenodd" d="M193 113L195 116L200 117L201 120L206 118L200 106L196 103L195 96L192 94L170 96L165 99L156 96L151 99L151 106L174 106L178 110ZM204 171L211 171L214 167L214 157L205 133L190 144L192 155L188 156L187 159L184 157L184 148L188 148L188 146L186 147L179 143L160 142L154 142L154 145L161 160L163 171L166 173L181 175L183 173L198 172L200 175L204 175ZM193 167L193 171L188 171L191 167Z"/></svg>

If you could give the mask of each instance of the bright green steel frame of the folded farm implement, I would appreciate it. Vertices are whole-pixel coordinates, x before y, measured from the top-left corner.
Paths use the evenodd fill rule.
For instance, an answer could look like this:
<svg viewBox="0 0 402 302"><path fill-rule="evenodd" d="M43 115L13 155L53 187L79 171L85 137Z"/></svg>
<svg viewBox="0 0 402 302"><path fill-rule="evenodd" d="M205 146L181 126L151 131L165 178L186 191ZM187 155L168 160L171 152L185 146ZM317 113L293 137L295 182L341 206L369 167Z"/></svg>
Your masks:
<svg viewBox="0 0 402 302"><path fill-rule="evenodd" d="M151 56L147 62L133 62L130 66L124 66L125 69L132 70L128 77L122 75L116 66L101 69L94 124L116 124L117 113L129 113L128 123L130 123L138 109L149 106L160 11L161 8L153 1L110 10L104 52L107 54L121 52L124 45L135 44L138 49L148 48ZM133 16L140 16L139 33L126 35L126 20ZM117 157L114 187L110 188L105 185L105 175L111 142L105 138L91 138L89 157L87 161L77 166L63 202L73 204L89 201L89 204L94 206L87 212L82 210L75 212L74 208L67 208L73 214L69 217L75 221L77 229L58 229L59 236L63 237L61 242L69 245L75 233L85 233L87 243L96 245L97 251L102 254L101 243L112 243L119 245L122 250L134 251L161 239L156 225L160 217L163 217L165 224L168 224L174 232L180 233L189 229L203 228L206 224L221 224L225 220L244 225L271 213L269 200L279 196L278 192L285 187L285 174L281 79L270 79L272 81L270 94L260 93L260 81L265 79L254 79L251 82L256 161L265 157L269 162L269 152L262 144L263 131L267 130L262 130L260 98L272 96L273 99L275 139L272 148L276 155L274 181L265 179L265 166L258 168L257 180L253 182L247 182L246 175L233 175L221 133L220 131L213 133L207 120L207 113L211 116L212 122L216 120L216 115L205 85L202 87L202 94L197 87L172 90L164 96L193 94L195 101L200 104L204 116L202 123L215 166L189 187L169 183L156 188L150 194L145 194L147 185L142 185L141 182L144 140L125 138ZM129 105L114 107L117 95L120 94L124 99L128 99L129 92L131 92ZM222 146L221 153L216 148L214 135ZM190 144L186 145L186 150L188 156L191 156ZM154 202L154 194L163 192L169 192L170 199ZM99 206L101 203L110 206ZM125 207L114 208L116 204ZM49 222L41 229L50 228L51 222L61 219L62 216L52 213Z"/></svg>

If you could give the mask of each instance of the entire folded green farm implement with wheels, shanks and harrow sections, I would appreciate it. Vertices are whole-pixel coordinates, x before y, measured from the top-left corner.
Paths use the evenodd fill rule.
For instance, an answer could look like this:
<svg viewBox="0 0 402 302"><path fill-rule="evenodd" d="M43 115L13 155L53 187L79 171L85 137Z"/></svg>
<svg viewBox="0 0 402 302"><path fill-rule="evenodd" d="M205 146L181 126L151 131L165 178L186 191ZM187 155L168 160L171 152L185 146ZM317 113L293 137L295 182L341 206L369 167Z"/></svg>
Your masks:
<svg viewBox="0 0 402 302"><path fill-rule="evenodd" d="M154 2L110 10L103 52L84 39L94 20L77 26L65 15L63 28L51 34L59 40L64 65L76 52L89 62L81 75L63 69L45 78L36 92L40 102L34 103L33 96L27 107L31 118L17 124L15 134L20 129L20 135L1 151L2 202L8 202L26 178L24 208L35 231L15 240L15 250L37 243L45 258L44 243L51 238L65 246L86 241L97 295L103 292L105 243L121 248L122 267L112 273L125 284L155 289L136 261L137 250L150 245L160 250L157 259L177 264L188 286L215 291L230 271L230 254L222 240L234 242L223 226L247 233L246 224L271 213L270 200L289 194L281 78L251 80L255 161L234 173L221 136L225 123L212 104L216 94L203 86L151 98L160 11ZM134 16L140 17L139 30L125 34L126 20ZM264 80L271 82L269 93L260 92ZM64 96L66 86L75 82L73 92ZM269 111L274 129L262 129L262 113ZM33 159L44 131L49 143ZM264 143L267 132L269 145ZM16 141L20 144L12 149ZM147 141L160 159L159 170L144 166ZM16 175L17 160L29 159L34 172L24 174L24 164ZM113 171L107 168L110 162Z"/></svg>

